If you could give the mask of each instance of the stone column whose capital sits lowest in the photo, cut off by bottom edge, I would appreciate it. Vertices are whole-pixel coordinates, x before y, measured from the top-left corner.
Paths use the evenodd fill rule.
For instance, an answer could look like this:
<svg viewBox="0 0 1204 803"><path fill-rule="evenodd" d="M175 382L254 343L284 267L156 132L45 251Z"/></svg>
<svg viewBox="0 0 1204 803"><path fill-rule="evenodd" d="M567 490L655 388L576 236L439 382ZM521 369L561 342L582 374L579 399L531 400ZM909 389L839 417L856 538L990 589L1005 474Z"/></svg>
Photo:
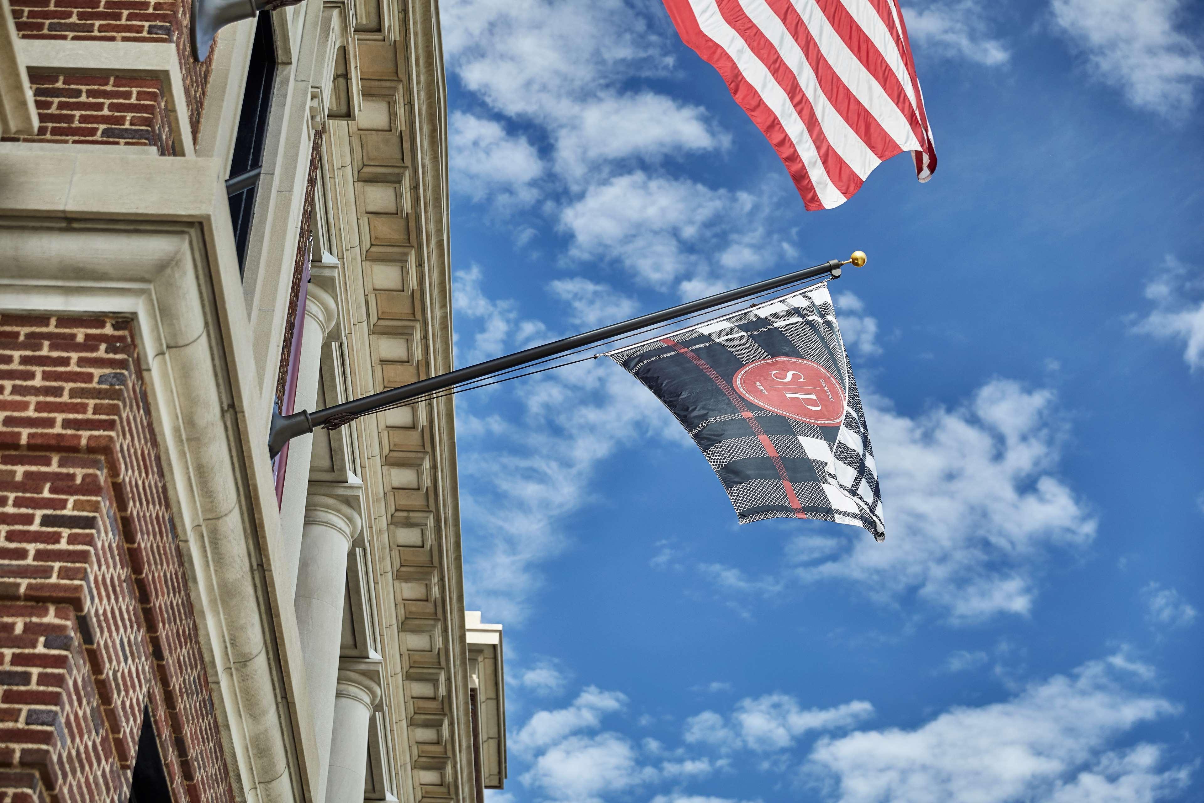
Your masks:
<svg viewBox="0 0 1204 803"><path fill-rule="evenodd" d="M368 725L372 708L380 699L380 686L366 674L340 669L335 693L326 803L364 803Z"/></svg>

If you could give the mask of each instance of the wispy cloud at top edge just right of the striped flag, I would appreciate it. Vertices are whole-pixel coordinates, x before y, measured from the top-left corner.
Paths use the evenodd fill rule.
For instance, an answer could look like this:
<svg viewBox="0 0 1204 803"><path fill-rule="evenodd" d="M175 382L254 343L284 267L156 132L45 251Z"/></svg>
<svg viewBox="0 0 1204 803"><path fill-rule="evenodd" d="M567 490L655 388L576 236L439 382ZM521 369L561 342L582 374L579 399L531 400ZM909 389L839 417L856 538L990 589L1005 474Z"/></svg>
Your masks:
<svg viewBox="0 0 1204 803"><path fill-rule="evenodd" d="M987 66L1007 64L1007 46L987 35L982 0L913 0L904 10L908 37L916 51Z"/></svg>

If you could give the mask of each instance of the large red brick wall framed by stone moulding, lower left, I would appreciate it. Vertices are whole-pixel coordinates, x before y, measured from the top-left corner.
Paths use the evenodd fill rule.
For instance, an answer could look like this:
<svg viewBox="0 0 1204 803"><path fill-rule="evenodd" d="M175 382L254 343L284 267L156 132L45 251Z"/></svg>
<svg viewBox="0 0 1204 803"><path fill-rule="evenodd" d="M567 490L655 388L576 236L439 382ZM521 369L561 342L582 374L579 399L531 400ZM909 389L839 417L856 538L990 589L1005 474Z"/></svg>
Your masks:
<svg viewBox="0 0 1204 803"><path fill-rule="evenodd" d="M130 323L0 315L0 803L232 801Z"/></svg>

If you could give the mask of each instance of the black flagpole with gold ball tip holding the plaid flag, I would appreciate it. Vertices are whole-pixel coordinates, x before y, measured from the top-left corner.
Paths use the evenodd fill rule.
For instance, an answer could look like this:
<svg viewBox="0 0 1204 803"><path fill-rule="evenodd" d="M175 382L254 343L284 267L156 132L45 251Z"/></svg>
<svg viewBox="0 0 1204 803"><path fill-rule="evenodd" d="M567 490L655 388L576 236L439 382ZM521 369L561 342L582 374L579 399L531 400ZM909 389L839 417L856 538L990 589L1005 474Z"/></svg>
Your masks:
<svg viewBox="0 0 1204 803"><path fill-rule="evenodd" d="M353 398L352 401L335 405L332 407L325 407L313 413L301 411L300 413L291 413L290 415L281 415L279 412L273 408L272 426L267 436L268 455L275 459L276 455L279 454L281 449L284 448L285 443L299 435L313 432L319 426L325 426L331 430L337 429L343 424L348 424L356 418L360 418L361 415L378 413L382 409L393 407L394 405L403 401L409 401L411 398L417 398L418 396L424 396L439 390L447 390L448 388L464 382L482 379L492 373L497 373L498 371L517 368L527 365L529 362L536 362L550 356L556 356L557 354L572 352L573 349L582 348L584 346L592 346L594 343L601 343L614 337L630 335L631 332L644 329L645 326L663 324L673 320L674 318L702 312L731 301L739 301L740 299L746 299L767 290L775 290L796 282L805 282L807 279L819 278L825 273L836 279L840 277L840 268L849 264L858 267L864 265L864 252L855 250L846 260L832 259L822 265L815 265L814 267L795 271L793 273L786 273L785 276L766 279L755 284L748 284L734 290L716 293L715 295L707 296L706 299L689 301L675 307L669 307L668 309L651 312L647 315L624 320L618 324L610 324L609 326L595 329L580 335L573 335L572 337L565 337L551 343L544 343L543 346L536 346L521 352L515 352L514 354L507 354L506 356L478 362L477 365L456 368L455 371L412 382L408 385L401 385L400 388L382 390L380 392L371 394L361 398Z"/></svg>

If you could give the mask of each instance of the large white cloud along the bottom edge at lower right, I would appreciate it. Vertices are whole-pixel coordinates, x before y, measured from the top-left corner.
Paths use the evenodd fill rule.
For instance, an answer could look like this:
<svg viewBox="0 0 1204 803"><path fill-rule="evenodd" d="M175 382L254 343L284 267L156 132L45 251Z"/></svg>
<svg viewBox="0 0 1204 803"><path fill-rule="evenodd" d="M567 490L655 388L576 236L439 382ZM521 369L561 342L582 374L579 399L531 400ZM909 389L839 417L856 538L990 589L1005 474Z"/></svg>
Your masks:
<svg viewBox="0 0 1204 803"><path fill-rule="evenodd" d="M840 803L1152 801L1115 792L1174 786L1191 768L1156 773L1158 756L1144 748L1102 752L1135 725L1179 712L1135 690L1141 681L1123 663L1091 661L1013 699L952 708L913 731L821 739L809 768L833 781Z"/></svg>

